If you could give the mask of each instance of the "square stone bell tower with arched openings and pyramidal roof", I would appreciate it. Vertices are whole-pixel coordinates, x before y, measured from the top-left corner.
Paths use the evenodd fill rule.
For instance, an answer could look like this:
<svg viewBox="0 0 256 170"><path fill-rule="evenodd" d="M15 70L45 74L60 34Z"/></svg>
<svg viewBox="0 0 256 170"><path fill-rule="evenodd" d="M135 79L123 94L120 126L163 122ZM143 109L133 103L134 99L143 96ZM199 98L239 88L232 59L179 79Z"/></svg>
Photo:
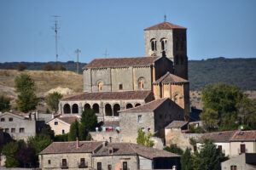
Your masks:
<svg viewBox="0 0 256 170"><path fill-rule="evenodd" d="M166 57L173 62L174 74L188 80L187 28L162 22L144 29L146 56Z"/></svg>

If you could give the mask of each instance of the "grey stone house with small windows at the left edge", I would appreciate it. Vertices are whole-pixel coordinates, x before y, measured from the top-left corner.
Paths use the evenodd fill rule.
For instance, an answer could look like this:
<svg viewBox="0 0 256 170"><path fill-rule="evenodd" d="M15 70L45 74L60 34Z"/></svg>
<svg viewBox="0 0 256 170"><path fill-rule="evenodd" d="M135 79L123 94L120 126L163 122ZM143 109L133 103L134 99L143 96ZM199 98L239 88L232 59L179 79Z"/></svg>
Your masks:
<svg viewBox="0 0 256 170"><path fill-rule="evenodd" d="M3 132L9 133L16 140L35 136L43 126L44 121L38 121L37 113L8 111L0 114L0 127Z"/></svg>

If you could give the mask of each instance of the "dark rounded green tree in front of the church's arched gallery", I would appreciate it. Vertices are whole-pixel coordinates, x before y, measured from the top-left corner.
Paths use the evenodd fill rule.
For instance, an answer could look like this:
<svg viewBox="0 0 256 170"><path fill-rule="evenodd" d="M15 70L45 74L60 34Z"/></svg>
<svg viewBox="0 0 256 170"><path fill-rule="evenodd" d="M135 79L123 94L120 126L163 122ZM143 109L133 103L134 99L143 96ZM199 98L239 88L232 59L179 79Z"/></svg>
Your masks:
<svg viewBox="0 0 256 170"><path fill-rule="evenodd" d="M97 116L92 109L85 109L82 113L81 123L84 125L87 132L95 130L97 125Z"/></svg>

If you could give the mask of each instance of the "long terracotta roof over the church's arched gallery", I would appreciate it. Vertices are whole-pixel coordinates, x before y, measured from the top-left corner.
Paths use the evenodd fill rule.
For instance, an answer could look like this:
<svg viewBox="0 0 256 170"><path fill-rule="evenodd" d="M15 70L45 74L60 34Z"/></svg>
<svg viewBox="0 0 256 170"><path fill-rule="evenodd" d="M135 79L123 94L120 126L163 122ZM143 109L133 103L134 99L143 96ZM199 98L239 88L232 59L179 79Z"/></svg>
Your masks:
<svg viewBox="0 0 256 170"><path fill-rule="evenodd" d="M150 90L129 91L129 92L98 92L83 93L72 97L61 99L61 101L70 100L101 100L101 99L147 99L152 94Z"/></svg>

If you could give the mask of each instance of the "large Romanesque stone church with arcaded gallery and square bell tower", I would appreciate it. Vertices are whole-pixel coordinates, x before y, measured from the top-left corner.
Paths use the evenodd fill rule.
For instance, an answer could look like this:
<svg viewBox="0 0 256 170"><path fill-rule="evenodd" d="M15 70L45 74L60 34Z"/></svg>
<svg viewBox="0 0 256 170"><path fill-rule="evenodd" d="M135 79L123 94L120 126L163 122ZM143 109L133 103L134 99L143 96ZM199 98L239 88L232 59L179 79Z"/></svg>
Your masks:
<svg viewBox="0 0 256 170"><path fill-rule="evenodd" d="M90 108L99 122L117 122L122 111L169 98L183 109L183 118L188 116L186 28L165 21L144 29L144 37L146 56L93 59L85 65L84 92L61 99L61 115Z"/></svg>

